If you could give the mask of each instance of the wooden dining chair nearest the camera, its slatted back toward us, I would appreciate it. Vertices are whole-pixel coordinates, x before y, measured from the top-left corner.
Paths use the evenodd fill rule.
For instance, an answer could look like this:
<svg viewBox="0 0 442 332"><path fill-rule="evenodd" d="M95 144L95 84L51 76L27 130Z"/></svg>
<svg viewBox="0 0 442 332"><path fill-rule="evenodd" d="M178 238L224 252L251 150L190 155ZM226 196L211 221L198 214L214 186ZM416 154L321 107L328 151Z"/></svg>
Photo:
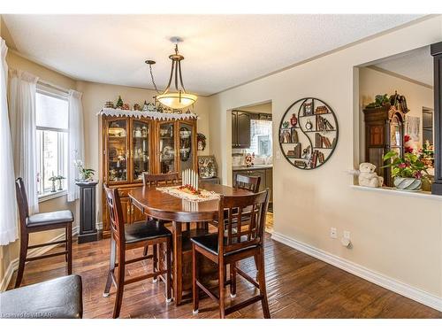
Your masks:
<svg viewBox="0 0 442 332"><path fill-rule="evenodd" d="M267 292L265 288L263 235L265 225L265 215L269 204L269 189L255 195L241 197L224 197L219 200L219 210L217 220L225 220L227 211L227 231L225 224L217 222L217 233L193 237L192 259L193 259L193 310L198 313L199 291L203 290L210 298L219 305L220 318L233 313L241 308L261 301L263 305L264 318L270 318L269 304L267 302ZM241 225L242 212L249 208L250 222L243 228ZM233 224L238 227L234 227ZM197 253L210 259L218 266L218 295L203 285L199 279L199 266ZM257 262L257 280L242 271L237 263L242 259L255 258ZM230 280L225 279L226 266L230 265ZM230 307L225 307L225 286L230 285L231 296L236 296L236 274L240 274L248 282L252 283L258 290L259 295Z"/></svg>

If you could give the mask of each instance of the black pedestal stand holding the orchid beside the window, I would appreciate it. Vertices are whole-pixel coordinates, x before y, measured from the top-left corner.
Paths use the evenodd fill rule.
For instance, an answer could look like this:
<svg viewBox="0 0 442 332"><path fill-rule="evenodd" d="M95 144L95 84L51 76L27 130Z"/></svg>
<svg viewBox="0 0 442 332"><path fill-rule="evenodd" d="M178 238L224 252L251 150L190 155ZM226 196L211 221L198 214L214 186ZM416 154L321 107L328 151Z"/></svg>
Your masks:
<svg viewBox="0 0 442 332"><path fill-rule="evenodd" d="M95 187L98 182L77 182L80 187L80 234L79 243L87 243L98 239L95 217Z"/></svg>

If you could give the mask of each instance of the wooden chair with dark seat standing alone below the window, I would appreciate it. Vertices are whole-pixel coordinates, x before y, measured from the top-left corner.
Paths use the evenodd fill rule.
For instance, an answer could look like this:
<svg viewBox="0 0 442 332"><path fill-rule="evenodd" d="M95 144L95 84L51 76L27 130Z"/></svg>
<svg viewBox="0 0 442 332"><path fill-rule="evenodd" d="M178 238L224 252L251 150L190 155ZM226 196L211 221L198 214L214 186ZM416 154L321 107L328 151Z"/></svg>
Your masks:
<svg viewBox="0 0 442 332"><path fill-rule="evenodd" d="M61 210L35 213L30 216L29 205L27 204L27 192L22 178L18 178L15 181L15 193L17 196L17 204L19 205L20 222L19 270L17 272L17 279L15 281L15 288L20 286L23 279L25 263L37 259L49 259L50 257L65 255L65 260L67 262L67 274L72 274L72 212L69 210ZM15 209L15 207L11 206L11 209ZM65 240L29 245L29 234L59 228L65 228ZM65 251L53 252L50 254L27 258L27 251L29 249L41 248L54 244L65 244Z"/></svg>

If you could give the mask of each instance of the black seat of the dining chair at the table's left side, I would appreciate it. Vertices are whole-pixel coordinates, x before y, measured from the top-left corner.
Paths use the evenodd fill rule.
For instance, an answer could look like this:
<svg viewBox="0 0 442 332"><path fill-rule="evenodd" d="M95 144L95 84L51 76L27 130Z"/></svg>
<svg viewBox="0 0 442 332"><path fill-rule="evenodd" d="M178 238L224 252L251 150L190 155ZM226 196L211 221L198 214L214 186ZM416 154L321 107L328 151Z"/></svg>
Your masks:
<svg viewBox="0 0 442 332"><path fill-rule="evenodd" d="M161 222L149 220L125 225L126 243L153 240L163 236L171 236L171 231L165 228Z"/></svg>

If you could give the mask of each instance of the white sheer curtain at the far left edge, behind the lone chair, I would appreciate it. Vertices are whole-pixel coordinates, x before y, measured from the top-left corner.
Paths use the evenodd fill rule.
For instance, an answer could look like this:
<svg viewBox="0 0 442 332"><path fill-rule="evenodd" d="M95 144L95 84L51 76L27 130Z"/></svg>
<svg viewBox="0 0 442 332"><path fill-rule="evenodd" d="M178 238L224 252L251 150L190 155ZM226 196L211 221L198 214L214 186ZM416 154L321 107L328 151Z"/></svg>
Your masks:
<svg viewBox="0 0 442 332"><path fill-rule="evenodd" d="M14 242L18 237L17 205L15 201L15 174L14 159L12 155L11 128L8 115L8 101L6 88L8 86L8 65L6 53L8 48L0 38L1 64L0 64L0 245Z"/></svg>

